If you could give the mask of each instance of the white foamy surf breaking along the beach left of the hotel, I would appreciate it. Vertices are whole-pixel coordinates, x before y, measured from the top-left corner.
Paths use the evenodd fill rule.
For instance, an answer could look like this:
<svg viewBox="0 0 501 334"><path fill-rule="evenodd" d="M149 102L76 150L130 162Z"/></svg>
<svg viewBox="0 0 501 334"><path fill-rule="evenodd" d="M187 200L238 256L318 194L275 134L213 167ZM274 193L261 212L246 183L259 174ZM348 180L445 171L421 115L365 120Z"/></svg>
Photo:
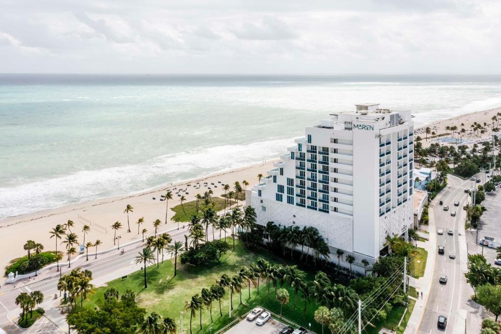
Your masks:
<svg viewBox="0 0 501 334"><path fill-rule="evenodd" d="M170 182L202 177L278 157L293 139L224 145L167 154L141 164L81 171L71 175L0 188L0 218L112 196L142 192ZM240 180L241 181L241 180Z"/></svg>

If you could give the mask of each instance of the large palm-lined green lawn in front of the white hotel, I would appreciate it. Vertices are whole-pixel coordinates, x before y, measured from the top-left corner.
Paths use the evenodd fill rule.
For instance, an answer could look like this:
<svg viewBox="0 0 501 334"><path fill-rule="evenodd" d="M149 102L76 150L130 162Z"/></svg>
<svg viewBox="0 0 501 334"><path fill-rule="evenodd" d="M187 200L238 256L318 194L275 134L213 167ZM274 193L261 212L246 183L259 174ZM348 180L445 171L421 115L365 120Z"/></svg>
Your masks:
<svg viewBox="0 0 501 334"><path fill-rule="evenodd" d="M227 241L231 244L231 239ZM177 276L173 277L174 268L173 262L165 261L160 264L157 269L156 266L148 267L148 288L144 289L143 273L142 271L134 272L125 280L121 278L108 282L108 287L115 287L120 292L125 289L133 290L137 297L136 300L141 307L145 307L148 312L156 311L163 316L173 318L176 323L179 323L179 312L184 308L184 302L187 301L195 293L200 293L203 287L209 288L214 284L216 279L224 273L233 275L243 265L248 265L256 261L259 257L268 259L273 263L289 264L283 259L277 258L266 251L260 253L249 252L240 244L235 241L235 250L228 251L223 254L220 262L206 266L203 268L183 266L178 261ZM307 279L312 280L312 274L307 274ZM233 310L231 312L231 319L228 317L229 308L229 294L226 293L224 299L221 300L221 308L223 315L219 316L219 306L217 301L212 305L212 317L214 322L210 323L210 316L208 310L205 308L202 311L202 324L203 329L199 332L214 332L219 328L225 326L236 316L244 314L256 305L261 305L272 312L280 313L280 304L275 300L275 290L270 288L270 297L267 297L267 287L263 281L260 282L260 292L251 285L250 299L248 298L248 289L242 288L242 304L240 305L239 295L233 295ZM270 284L271 285L271 284ZM89 296L90 300L87 304L94 304L98 298L103 298L104 291L107 287L101 287L96 290L95 294ZM227 291L226 291L227 292ZM306 313L303 315L304 301L298 297L297 309L294 310L294 291L289 289L291 295L290 302L284 305L283 316L308 327L308 323L312 323L312 329L321 332L321 326L315 321L313 313L317 306L315 303L308 304ZM193 317L192 327L194 332L199 329L199 314ZM189 315L183 317L183 329L187 332L189 329Z"/></svg>

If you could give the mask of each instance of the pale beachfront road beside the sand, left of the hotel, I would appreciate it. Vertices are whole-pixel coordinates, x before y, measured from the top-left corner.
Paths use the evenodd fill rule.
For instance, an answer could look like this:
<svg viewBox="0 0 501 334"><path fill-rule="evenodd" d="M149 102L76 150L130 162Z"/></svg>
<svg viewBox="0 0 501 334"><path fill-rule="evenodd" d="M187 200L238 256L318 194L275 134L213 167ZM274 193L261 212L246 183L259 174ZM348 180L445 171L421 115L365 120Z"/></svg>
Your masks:
<svg viewBox="0 0 501 334"><path fill-rule="evenodd" d="M181 241L184 244L184 235L187 233L186 228L180 228L178 231L170 233L172 241ZM209 231L209 239L212 239L212 234ZM102 285L107 281L118 278L120 276L127 275L140 269L141 264L135 263L135 257L138 251L143 247L142 243L137 243L127 247L121 247L124 249L124 254L120 254L121 250L112 251L107 254L98 255L97 260L90 259L89 262L84 259L80 259L72 263L71 268L65 268L62 272L70 272L74 268L89 269L92 271L93 281L95 285ZM90 258L93 258L90 257ZM169 256L166 255L166 259ZM18 308L15 299L21 292L31 292L35 290L40 290L45 296L45 301L43 306L46 308L50 307L59 298L59 291L57 289L57 284L59 281L59 273L56 269L51 269L50 273L46 277L36 277L30 280L24 279L16 282L16 284L6 284L2 286L0 290L0 327L7 330L8 333L14 331L11 319L17 319L18 314L15 310ZM55 298L56 296L56 298ZM54 306L54 305L53 305ZM55 316L51 316L54 314ZM64 316L57 312L46 312L46 315L57 323L60 328L67 328L64 323Z"/></svg>

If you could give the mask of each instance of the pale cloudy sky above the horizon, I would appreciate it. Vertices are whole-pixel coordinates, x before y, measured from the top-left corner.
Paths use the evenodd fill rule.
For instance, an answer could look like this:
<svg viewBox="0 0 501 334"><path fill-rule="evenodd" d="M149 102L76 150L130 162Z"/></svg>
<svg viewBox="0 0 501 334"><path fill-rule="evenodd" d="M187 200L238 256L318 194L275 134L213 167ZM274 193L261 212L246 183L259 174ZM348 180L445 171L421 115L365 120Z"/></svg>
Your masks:
<svg viewBox="0 0 501 334"><path fill-rule="evenodd" d="M499 0L0 0L0 73L501 73Z"/></svg>

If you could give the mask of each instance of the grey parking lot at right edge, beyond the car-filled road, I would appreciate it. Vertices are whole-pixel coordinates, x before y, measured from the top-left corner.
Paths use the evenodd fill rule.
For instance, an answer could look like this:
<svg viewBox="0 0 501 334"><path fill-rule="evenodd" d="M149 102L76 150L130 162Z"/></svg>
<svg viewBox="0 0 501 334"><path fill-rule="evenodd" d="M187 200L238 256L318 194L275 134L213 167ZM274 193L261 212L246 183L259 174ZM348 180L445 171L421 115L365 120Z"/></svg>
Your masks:
<svg viewBox="0 0 501 334"><path fill-rule="evenodd" d="M501 243L501 222L499 221L499 217L501 217L501 189L496 188L491 195L485 195L485 200L481 205L487 211L483 213L478 224L478 239L482 239L485 236L493 237L495 238L495 243L499 244ZM482 246L478 245L476 235L476 232L466 231L466 241L470 254L482 252ZM483 255L488 263L494 264L494 259L496 258L495 249L483 247Z"/></svg>

